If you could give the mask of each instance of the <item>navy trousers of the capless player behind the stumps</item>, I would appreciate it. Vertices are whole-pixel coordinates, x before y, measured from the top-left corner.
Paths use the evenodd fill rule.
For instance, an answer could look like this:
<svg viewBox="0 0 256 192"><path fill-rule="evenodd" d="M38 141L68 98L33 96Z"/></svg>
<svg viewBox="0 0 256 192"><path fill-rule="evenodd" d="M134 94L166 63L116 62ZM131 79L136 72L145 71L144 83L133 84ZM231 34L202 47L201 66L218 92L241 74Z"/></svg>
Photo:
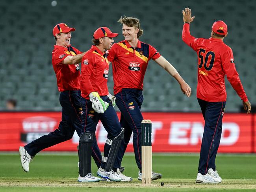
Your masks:
<svg viewBox="0 0 256 192"><path fill-rule="evenodd" d="M133 147L135 161L141 170L141 105L143 103L142 90L139 89L122 89L115 95L116 104L121 111L120 124L124 128L124 140L121 143L119 152L113 168L120 168L124 152L133 135Z"/></svg>

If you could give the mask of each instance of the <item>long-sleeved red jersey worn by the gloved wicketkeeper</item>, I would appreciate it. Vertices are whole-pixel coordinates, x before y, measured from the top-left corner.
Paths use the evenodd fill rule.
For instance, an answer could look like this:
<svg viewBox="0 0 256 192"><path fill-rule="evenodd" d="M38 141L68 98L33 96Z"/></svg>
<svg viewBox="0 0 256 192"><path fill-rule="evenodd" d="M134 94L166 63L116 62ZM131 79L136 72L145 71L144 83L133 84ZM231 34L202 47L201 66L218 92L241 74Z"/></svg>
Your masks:
<svg viewBox="0 0 256 192"><path fill-rule="evenodd" d="M98 92L100 96L108 95L108 59L106 54L96 46L91 46L82 58L81 96L89 99L91 92Z"/></svg>

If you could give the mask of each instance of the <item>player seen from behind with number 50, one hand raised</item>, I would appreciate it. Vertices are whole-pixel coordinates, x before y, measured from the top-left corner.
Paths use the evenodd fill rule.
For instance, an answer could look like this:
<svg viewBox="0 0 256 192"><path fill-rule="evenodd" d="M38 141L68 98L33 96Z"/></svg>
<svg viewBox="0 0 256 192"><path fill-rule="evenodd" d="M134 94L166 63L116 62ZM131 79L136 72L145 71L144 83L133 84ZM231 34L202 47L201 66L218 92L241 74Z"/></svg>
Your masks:
<svg viewBox="0 0 256 192"><path fill-rule="evenodd" d="M185 8L182 14L182 40L198 55L197 100L205 120L196 183L221 183L215 158L226 104L225 75L241 98L247 114L251 105L236 71L232 49L223 42L228 35L226 23L215 21L209 39L195 38L189 32L189 24L195 18L191 17L191 9Z"/></svg>

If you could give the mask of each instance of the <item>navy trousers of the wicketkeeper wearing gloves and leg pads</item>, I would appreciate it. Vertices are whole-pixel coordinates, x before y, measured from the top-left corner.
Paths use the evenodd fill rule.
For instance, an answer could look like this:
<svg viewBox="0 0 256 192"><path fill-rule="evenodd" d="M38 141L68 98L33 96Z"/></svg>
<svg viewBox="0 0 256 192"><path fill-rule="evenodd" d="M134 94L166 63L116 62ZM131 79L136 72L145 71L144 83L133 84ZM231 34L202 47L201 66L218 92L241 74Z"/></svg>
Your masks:
<svg viewBox="0 0 256 192"><path fill-rule="evenodd" d="M117 113L107 96L101 96L102 100L109 103L108 109L104 113L97 113L94 111L92 107L92 103L90 100L87 100L82 97L81 103L83 108L83 118L82 118L82 129L83 132L90 131L95 133L96 126L99 120L102 122L102 125L108 132L107 138L113 140L117 135L121 133L121 126L119 123L119 119ZM111 145L104 145L104 157L108 157L109 150ZM101 167L105 168L105 162L102 162Z"/></svg>

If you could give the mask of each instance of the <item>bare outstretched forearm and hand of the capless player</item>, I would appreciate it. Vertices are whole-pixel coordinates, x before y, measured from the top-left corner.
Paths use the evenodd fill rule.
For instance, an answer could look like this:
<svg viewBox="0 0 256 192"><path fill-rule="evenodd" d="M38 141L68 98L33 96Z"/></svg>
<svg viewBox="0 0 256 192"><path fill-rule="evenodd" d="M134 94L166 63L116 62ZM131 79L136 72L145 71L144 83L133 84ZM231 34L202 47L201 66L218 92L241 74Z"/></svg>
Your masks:
<svg viewBox="0 0 256 192"><path fill-rule="evenodd" d="M167 61L163 56L160 56L158 59L154 60L158 65L160 65L162 68L164 68L171 76L173 76L178 83L180 84L180 89L184 94L186 94L187 97L191 96L191 88L189 85L182 79L180 74L177 72L177 70L174 68L169 61Z"/></svg>

